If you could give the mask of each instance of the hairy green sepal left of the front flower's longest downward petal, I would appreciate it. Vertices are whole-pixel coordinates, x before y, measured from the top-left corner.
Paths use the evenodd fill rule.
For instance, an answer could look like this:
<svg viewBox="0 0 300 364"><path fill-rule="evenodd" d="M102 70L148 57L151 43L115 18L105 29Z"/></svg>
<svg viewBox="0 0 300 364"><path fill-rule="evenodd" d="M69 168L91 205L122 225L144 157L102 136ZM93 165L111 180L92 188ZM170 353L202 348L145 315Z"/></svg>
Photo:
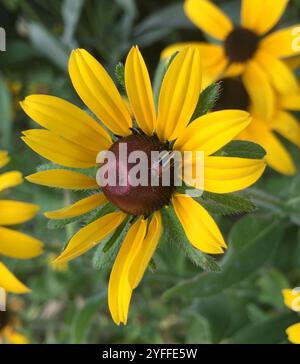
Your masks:
<svg viewBox="0 0 300 364"><path fill-rule="evenodd" d="M115 259L129 226L129 219L126 219L112 235L100 243L93 257L95 269L103 269Z"/></svg>

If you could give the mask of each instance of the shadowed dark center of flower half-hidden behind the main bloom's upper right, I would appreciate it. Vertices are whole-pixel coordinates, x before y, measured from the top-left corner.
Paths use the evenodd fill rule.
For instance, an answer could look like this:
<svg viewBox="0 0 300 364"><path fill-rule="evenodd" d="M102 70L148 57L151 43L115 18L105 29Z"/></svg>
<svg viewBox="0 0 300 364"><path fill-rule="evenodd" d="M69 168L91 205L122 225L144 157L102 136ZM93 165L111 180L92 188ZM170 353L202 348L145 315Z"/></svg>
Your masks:
<svg viewBox="0 0 300 364"><path fill-rule="evenodd" d="M249 94L239 79L225 78L221 81L221 92L214 111L238 109L248 111Z"/></svg>

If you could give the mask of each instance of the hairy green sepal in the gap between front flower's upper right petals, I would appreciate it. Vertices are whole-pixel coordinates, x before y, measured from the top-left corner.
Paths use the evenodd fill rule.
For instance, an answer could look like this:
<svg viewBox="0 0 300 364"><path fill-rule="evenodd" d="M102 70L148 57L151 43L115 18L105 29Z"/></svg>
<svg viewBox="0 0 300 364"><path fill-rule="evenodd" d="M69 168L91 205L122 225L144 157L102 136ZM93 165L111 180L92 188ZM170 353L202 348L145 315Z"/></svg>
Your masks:
<svg viewBox="0 0 300 364"><path fill-rule="evenodd" d="M196 109L191 118L191 121L199 118L202 115L207 114L214 108L219 98L220 91L221 91L221 83L217 82L206 87L206 89L201 92Z"/></svg>

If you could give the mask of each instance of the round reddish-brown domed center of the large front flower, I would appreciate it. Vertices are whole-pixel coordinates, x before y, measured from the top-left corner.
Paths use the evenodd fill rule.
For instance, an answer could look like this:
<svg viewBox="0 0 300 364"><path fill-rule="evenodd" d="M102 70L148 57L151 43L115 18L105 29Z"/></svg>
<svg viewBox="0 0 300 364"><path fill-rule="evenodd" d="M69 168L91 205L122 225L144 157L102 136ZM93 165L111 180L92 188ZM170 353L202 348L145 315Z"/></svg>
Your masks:
<svg viewBox="0 0 300 364"><path fill-rule="evenodd" d="M156 136L133 134L119 139L109 151L113 152L115 163L108 159L106 169L116 170L116 183L108 182L102 190L110 202L129 214L146 216L170 202L174 191L173 167L169 169L170 183L165 185L162 181L162 171L170 166L167 162L164 167L163 163L170 155L166 143ZM166 158L158 161L159 153Z"/></svg>

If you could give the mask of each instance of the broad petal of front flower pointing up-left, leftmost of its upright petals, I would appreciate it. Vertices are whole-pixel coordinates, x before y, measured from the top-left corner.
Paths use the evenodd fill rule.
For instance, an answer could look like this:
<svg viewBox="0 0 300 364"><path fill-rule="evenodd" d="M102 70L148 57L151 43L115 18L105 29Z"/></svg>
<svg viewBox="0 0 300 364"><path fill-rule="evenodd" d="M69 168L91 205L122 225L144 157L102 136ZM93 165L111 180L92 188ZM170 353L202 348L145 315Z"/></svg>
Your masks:
<svg viewBox="0 0 300 364"><path fill-rule="evenodd" d="M78 95L116 135L130 134L132 120L113 80L86 50L72 52L69 73Z"/></svg>

